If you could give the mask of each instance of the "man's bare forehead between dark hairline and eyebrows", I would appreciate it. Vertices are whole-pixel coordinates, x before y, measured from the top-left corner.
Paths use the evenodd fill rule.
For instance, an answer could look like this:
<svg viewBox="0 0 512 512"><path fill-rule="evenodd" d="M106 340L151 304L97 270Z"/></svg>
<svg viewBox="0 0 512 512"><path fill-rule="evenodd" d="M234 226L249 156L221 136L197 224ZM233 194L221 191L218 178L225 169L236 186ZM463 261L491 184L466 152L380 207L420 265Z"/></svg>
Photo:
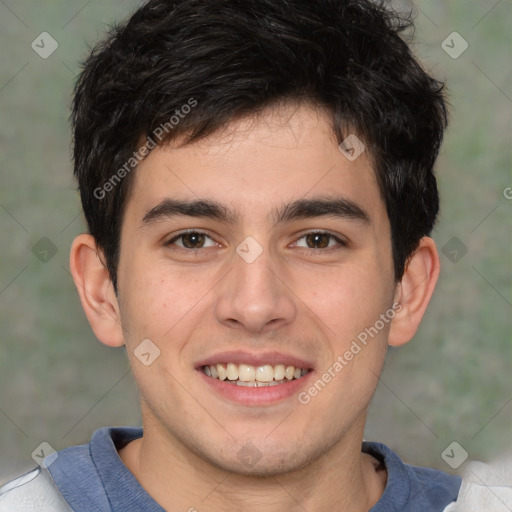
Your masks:
<svg viewBox="0 0 512 512"><path fill-rule="evenodd" d="M363 149L360 156L347 158L320 109L269 108L206 139L155 148L135 172L127 216L141 219L170 197L212 199L237 219L270 221L283 204L321 196L343 197L387 220L370 158L364 146L355 149Z"/></svg>

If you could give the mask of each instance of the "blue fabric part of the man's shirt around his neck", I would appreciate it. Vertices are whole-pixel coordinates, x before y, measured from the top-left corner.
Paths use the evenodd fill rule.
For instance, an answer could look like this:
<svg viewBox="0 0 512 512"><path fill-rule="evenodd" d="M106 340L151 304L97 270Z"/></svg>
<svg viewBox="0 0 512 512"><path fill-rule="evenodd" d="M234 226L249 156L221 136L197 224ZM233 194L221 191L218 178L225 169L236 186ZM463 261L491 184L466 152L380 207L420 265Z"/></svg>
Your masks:
<svg viewBox="0 0 512 512"><path fill-rule="evenodd" d="M165 512L124 465L117 449L142 436L141 428L102 428L89 444L58 452L49 471L74 512ZM442 512L455 501L461 479L404 464L387 446L363 443L385 465L386 489L370 512Z"/></svg>

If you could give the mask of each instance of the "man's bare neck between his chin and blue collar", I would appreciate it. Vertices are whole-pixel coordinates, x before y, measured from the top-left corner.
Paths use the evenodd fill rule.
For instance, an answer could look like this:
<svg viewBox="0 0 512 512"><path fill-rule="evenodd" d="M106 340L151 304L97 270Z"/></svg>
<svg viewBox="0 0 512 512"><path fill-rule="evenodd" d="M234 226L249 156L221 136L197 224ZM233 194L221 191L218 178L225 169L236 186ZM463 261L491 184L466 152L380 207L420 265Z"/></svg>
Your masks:
<svg viewBox="0 0 512 512"><path fill-rule="evenodd" d="M362 428L299 470L242 475L206 461L157 423L146 421L144 436L119 455L166 510L366 512L382 495L386 473L361 453L361 442Z"/></svg>

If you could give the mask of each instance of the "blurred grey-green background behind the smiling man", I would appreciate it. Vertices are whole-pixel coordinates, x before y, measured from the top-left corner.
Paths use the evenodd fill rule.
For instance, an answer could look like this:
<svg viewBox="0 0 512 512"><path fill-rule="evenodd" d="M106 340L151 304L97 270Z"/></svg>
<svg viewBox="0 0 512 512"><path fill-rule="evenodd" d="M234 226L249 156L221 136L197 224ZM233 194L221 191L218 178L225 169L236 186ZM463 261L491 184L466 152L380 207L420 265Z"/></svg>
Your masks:
<svg viewBox="0 0 512 512"><path fill-rule="evenodd" d="M139 3L0 2L0 483L32 467L42 441L61 449L140 423L126 355L95 339L68 271L85 230L68 123L78 63ZM415 52L452 106L437 164L442 274L417 336L389 354L366 438L449 471L441 453L453 441L483 460L512 441L512 5L415 6ZM454 31L469 45L458 58L442 48ZM47 59L31 48L42 32L59 44Z"/></svg>

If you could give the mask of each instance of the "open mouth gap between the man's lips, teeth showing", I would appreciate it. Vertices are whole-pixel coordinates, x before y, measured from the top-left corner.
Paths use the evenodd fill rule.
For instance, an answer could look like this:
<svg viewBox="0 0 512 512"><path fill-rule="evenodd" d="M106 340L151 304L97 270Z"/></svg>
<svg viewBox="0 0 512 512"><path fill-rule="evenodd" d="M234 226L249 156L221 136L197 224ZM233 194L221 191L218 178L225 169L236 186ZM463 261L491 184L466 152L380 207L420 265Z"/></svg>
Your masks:
<svg viewBox="0 0 512 512"><path fill-rule="evenodd" d="M300 379L310 372L307 368L284 364L253 366L235 363L205 365L202 371L212 379L252 388L279 386Z"/></svg>

